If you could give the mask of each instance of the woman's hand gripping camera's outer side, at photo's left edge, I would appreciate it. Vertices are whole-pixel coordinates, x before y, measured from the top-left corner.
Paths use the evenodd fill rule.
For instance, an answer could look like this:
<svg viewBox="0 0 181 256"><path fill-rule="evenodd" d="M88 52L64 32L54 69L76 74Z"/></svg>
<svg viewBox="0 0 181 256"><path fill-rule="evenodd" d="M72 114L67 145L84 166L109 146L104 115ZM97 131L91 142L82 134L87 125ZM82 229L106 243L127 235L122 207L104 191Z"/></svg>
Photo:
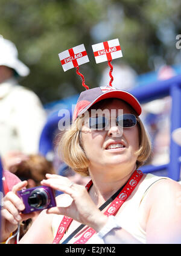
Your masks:
<svg viewBox="0 0 181 256"><path fill-rule="evenodd" d="M30 219L34 216L34 213L21 213L21 211L25 209L25 205L22 202L22 199L16 194L18 190L22 190L22 188L27 186L27 184L27 181L17 183L3 198L3 206L1 210L1 242L7 240L11 232L14 232L17 229L17 224L19 222Z"/></svg>

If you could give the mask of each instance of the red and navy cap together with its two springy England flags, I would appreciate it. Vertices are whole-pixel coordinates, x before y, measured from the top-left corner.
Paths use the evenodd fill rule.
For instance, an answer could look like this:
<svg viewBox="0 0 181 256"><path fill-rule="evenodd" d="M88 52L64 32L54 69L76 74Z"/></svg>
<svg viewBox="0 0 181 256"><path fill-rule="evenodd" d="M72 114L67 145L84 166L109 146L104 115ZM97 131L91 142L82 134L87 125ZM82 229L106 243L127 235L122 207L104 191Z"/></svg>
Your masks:
<svg viewBox="0 0 181 256"><path fill-rule="evenodd" d="M118 39L109 40L106 42L97 43L92 45L92 50L94 52L95 62L108 62L110 66L110 82L109 86L98 87L89 89L84 83L84 76L79 72L79 66L89 62L86 49L84 45L78 45L69 50L59 53L60 62L62 64L63 70L67 71L71 68L76 68L76 72L81 76L82 85L86 88L86 91L81 92L78 97L77 104L75 106L73 120L82 115L87 109L92 107L95 103L106 98L119 98L126 101L130 106L135 109L137 115L141 115L141 105L138 100L129 92L116 89L112 86L113 82L113 66L111 64L113 59L122 57L121 46L119 45Z"/></svg>

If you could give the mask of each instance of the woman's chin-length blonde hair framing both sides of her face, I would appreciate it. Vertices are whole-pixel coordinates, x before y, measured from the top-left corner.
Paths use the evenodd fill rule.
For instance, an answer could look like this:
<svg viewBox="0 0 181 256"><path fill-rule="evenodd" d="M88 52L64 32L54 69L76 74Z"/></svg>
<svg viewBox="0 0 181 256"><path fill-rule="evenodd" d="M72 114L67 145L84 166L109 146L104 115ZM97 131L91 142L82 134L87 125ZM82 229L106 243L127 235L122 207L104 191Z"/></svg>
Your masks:
<svg viewBox="0 0 181 256"><path fill-rule="evenodd" d="M82 123L82 117L78 117L69 130L61 133L59 151L61 152L62 160L68 164L72 170L83 176L89 176L89 159L87 159L81 144L81 130L77 128L80 127L80 123ZM138 128L139 150L135 152L138 156L136 161L137 168L143 165L151 154L151 142L139 117Z"/></svg>

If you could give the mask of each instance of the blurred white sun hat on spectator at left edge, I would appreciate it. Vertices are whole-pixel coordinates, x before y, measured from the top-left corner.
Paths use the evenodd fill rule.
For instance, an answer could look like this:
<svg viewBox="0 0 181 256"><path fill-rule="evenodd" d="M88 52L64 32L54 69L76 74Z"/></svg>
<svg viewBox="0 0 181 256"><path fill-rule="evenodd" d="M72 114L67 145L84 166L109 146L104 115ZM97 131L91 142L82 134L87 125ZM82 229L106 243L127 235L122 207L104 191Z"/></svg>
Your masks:
<svg viewBox="0 0 181 256"><path fill-rule="evenodd" d="M18 59L16 45L0 35L0 65L13 68L21 77L30 73L30 69Z"/></svg>

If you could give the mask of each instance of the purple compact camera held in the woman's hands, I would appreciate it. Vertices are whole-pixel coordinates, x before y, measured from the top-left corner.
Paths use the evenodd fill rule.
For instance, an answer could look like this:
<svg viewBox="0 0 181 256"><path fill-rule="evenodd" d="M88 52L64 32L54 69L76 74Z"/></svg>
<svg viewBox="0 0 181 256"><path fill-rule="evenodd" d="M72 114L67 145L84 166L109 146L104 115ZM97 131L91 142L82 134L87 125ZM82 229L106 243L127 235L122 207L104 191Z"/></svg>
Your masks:
<svg viewBox="0 0 181 256"><path fill-rule="evenodd" d="M22 213L32 213L56 206L56 200L52 188L39 186L28 188L27 190L17 191L19 197L22 198L25 210Z"/></svg>

